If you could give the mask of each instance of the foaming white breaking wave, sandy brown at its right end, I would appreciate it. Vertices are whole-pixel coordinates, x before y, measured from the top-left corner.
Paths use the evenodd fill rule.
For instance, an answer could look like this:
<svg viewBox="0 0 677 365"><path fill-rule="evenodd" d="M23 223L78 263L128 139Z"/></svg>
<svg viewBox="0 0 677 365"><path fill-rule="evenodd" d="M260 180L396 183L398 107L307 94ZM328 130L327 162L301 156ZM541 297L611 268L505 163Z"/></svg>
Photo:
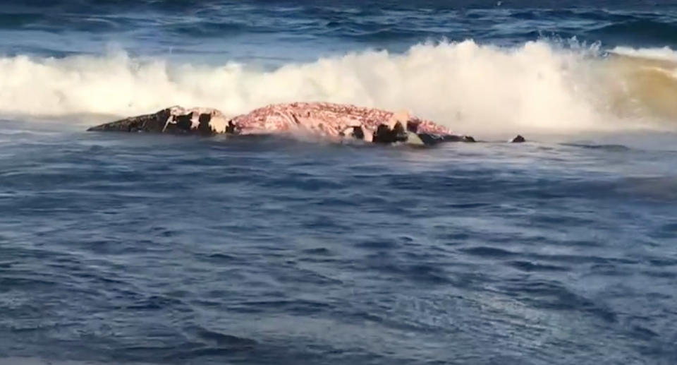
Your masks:
<svg viewBox="0 0 677 365"><path fill-rule="evenodd" d="M106 56L0 58L0 114L128 116L172 104L240 114L263 104L329 101L410 109L455 129L609 131L673 129L677 52L417 44L405 54L366 51L274 70L234 62L172 64Z"/></svg>

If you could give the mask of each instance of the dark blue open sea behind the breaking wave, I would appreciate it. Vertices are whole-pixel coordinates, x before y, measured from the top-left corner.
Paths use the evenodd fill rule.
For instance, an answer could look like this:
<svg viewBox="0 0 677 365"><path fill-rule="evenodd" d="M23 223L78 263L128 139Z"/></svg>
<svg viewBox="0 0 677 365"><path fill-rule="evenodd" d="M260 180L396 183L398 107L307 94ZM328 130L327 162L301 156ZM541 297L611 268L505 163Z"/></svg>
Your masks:
<svg viewBox="0 0 677 365"><path fill-rule="evenodd" d="M182 59L310 60L442 39L664 47L677 45L677 2L32 0L0 7L0 34L4 54L91 54L114 44Z"/></svg>

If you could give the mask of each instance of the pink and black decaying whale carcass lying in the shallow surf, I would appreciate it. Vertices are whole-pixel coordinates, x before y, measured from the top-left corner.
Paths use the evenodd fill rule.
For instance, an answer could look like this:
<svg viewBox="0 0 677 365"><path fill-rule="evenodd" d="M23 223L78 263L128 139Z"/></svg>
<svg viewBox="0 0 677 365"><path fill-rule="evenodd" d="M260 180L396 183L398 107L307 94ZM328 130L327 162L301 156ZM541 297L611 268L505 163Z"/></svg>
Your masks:
<svg viewBox="0 0 677 365"><path fill-rule="evenodd" d="M356 107L329 102L271 104L233 118L212 108L169 107L94 126L87 131L144 131L233 135L306 133L330 140L344 138L371 143L407 142L430 145L442 141L475 142L408 112Z"/></svg>

